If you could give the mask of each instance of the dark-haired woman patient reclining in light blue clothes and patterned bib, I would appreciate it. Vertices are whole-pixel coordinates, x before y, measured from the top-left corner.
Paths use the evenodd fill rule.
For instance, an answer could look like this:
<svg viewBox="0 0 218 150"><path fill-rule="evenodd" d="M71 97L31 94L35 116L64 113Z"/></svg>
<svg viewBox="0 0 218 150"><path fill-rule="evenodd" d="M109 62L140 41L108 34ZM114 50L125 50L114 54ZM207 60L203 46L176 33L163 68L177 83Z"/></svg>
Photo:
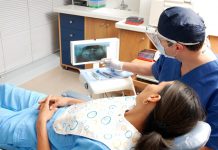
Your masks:
<svg viewBox="0 0 218 150"><path fill-rule="evenodd" d="M203 119L196 94L179 81L88 102L0 85L3 149L171 149Z"/></svg>

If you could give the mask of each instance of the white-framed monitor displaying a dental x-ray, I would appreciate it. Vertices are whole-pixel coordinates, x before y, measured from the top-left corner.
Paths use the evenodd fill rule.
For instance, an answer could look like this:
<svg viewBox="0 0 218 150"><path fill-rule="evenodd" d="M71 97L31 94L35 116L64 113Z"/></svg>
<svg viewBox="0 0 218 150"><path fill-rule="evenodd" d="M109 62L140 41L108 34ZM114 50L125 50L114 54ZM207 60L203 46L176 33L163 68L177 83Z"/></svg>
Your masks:
<svg viewBox="0 0 218 150"><path fill-rule="evenodd" d="M119 59L119 39L71 41L72 65L99 63L102 58Z"/></svg>

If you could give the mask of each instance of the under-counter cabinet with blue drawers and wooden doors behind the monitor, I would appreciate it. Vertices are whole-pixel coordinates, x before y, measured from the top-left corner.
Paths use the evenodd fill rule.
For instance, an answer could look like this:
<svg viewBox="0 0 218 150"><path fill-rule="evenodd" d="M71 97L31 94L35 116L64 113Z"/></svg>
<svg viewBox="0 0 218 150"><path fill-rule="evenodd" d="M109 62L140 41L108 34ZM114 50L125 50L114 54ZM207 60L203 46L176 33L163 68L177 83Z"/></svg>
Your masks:
<svg viewBox="0 0 218 150"><path fill-rule="evenodd" d="M118 37L118 31L115 28L114 21L60 14L59 43L62 67L66 69L68 67L73 69L84 68L84 65L72 66L70 41Z"/></svg>

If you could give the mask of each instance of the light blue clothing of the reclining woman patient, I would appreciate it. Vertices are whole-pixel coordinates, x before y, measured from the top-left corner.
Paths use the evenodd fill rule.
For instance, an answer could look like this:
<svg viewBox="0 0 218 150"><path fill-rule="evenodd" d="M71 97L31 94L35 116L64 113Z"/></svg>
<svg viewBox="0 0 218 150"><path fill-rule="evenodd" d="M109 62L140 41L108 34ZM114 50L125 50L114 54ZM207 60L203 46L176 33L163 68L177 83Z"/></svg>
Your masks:
<svg viewBox="0 0 218 150"><path fill-rule="evenodd" d="M0 84L0 148L7 150L37 148L36 120L38 101L46 95L9 84ZM47 123L51 149L109 150L101 142L76 135L58 135L52 124L66 108L60 108Z"/></svg>

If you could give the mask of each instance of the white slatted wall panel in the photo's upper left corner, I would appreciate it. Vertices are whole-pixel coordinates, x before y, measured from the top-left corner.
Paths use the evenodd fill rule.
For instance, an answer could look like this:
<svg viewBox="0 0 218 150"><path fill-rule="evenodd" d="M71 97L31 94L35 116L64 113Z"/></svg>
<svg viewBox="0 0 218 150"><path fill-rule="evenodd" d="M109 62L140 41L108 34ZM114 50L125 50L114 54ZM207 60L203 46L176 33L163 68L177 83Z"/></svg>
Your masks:
<svg viewBox="0 0 218 150"><path fill-rule="evenodd" d="M1 36L29 29L27 0L0 0Z"/></svg>

